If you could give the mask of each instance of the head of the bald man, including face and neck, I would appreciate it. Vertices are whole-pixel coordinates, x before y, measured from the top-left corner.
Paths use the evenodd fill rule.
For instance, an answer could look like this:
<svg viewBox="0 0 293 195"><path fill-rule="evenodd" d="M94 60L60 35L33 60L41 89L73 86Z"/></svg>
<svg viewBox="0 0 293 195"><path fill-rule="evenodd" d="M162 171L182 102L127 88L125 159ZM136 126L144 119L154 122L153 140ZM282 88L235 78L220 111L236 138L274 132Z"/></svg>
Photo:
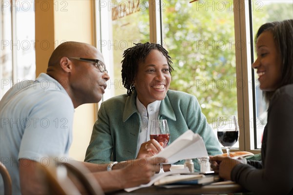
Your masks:
<svg viewBox="0 0 293 195"><path fill-rule="evenodd" d="M52 53L46 73L63 86L75 108L84 103L99 102L109 79L107 72L101 72L96 63L78 58L98 59L105 63L96 47L81 42L64 42Z"/></svg>

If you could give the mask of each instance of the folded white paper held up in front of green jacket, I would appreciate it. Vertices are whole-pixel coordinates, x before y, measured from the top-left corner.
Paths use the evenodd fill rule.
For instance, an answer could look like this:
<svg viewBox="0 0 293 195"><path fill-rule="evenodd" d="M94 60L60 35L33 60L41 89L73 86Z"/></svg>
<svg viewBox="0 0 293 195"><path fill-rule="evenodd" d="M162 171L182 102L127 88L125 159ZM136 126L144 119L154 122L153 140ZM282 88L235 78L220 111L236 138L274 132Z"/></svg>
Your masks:
<svg viewBox="0 0 293 195"><path fill-rule="evenodd" d="M178 160L209 156L204 140L198 134L188 130L163 151L153 157L164 157L168 164Z"/></svg>

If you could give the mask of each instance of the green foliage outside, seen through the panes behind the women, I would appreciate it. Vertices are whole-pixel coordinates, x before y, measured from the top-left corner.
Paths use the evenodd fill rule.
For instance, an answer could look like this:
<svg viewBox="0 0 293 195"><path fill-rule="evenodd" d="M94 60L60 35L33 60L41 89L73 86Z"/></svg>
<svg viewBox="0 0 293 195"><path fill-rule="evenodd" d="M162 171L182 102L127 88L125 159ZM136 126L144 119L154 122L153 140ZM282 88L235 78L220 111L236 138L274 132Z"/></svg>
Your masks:
<svg viewBox="0 0 293 195"><path fill-rule="evenodd" d="M148 1L142 2L148 5ZM113 21L113 41L118 45L112 48L118 80L116 95L126 94L121 82L121 60L126 48L123 44L119 47L119 41L126 41L128 47L133 42L149 41L148 11L142 9ZM292 19L293 4L290 0L271 4L252 0L252 13L255 31L268 21ZM248 83L236 81L235 49L243 45L234 38L233 1L164 0L162 16L162 44L169 51L175 69L170 89L197 97L209 123L218 117L237 116L237 87Z"/></svg>

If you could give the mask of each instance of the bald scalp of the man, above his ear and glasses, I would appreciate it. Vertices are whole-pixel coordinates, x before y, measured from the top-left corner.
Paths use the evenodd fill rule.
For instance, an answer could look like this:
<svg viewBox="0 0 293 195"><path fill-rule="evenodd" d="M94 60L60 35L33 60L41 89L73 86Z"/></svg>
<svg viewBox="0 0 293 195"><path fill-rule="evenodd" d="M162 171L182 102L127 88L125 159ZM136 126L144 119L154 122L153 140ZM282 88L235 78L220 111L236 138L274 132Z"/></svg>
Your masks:
<svg viewBox="0 0 293 195"><path fill-rule="evenodd" d="M90 44L68 41L60 44L52 53L48 66L58 65L63 57L84 57L87 56L90 50L96 48Z"/></svg>

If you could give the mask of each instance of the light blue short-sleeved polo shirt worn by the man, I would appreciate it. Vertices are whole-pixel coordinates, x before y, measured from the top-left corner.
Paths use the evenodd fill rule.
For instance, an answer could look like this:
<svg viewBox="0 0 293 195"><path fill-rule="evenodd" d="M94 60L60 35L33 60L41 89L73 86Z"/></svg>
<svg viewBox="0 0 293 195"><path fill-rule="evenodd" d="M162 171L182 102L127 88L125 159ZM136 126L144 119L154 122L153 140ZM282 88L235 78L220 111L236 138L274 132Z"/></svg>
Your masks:
<svg viewBox="0 0 293 195"><path fill-rule="evenodd" d="M19 159L47 165L68 156L74 106L63 86L47 74L14 84L0 101L0 161L21 194ZM25 165L24 165L25 166ZM0 178L0 194L3 194Z"/></svg>

